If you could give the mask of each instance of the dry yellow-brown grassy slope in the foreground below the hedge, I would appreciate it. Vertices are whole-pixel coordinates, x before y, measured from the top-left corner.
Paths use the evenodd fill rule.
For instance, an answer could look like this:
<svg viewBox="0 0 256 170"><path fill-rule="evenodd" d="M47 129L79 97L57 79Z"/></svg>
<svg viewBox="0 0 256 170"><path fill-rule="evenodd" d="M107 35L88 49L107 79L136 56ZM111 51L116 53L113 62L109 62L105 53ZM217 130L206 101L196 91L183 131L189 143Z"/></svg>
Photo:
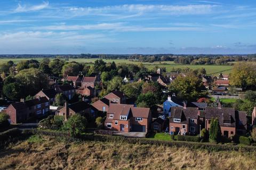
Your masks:
<svg viewBox="0 0 256 170"><path fill-rule="evenodd" d="M256 152L117 142L65 142L34 135L0 150L0 169L253 169Z"/></svg>

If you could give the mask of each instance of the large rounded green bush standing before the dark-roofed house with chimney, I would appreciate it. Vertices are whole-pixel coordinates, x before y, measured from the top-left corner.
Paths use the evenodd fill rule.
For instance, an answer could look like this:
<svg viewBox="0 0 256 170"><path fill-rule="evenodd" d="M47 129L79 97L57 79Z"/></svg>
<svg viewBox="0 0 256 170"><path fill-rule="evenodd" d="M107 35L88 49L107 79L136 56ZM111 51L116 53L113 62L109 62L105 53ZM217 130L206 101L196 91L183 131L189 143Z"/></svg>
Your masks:
<svg viewBox="0 0 256 170"><path fill-rule="evenodd" d="M63 129L69 131L71 137L79 137L86 128L87 119L84 116L75 114L64 123Z"/></svg>

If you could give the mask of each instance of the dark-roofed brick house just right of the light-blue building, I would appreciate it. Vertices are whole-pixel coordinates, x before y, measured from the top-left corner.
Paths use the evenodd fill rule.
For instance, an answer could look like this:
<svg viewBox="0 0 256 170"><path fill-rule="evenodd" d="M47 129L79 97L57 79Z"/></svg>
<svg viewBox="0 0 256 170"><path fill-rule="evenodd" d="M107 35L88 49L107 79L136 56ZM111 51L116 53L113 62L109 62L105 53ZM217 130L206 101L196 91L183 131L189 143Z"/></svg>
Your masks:
<svg viewBox="0 0 256 170"><path fill-rule="evenodd" d="M172 107L170 134L199 133L199 110L196 107Z"/></svg>

